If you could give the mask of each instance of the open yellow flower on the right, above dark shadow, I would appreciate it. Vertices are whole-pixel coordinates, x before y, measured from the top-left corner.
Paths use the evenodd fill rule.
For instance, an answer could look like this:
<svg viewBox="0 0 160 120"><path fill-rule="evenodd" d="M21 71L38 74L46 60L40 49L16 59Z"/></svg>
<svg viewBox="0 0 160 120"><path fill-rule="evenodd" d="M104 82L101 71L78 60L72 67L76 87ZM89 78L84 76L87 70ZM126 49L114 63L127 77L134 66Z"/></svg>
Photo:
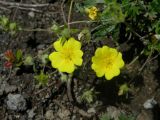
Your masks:
<svg viewBox="0 0 160 120"><path fill-rule="evenodd" d="M120 74L120 68L124 66L122 54L114 48L103 46L97 48L95 56L92 57L92 69L98 77L105 75L107 80Z"/></svg>

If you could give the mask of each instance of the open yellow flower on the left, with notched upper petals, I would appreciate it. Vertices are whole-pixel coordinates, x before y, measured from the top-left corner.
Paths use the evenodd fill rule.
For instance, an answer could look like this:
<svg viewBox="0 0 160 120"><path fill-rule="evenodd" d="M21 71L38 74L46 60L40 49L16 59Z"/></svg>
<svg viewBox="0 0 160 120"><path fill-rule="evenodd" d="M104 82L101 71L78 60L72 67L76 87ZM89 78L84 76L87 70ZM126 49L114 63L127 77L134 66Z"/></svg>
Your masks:
<svg viewBox="0 0 160 120"><path fill-rule="evenodd" d="M82 65L83 52L79 41L71 37L62 44L62 38L60 38L54 42L53 46L56 52L49 55L53 68L57 68L60 72L72 73L76 65Z"/></svg>

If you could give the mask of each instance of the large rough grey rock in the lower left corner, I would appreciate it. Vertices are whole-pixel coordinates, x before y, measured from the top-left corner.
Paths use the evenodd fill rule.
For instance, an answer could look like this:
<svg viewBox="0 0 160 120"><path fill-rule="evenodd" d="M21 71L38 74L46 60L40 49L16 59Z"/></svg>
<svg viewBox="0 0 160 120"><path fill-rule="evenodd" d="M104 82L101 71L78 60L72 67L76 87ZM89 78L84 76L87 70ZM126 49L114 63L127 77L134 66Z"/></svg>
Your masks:
<svg viewBox="0 0 160 120"><path fill-rule="evenodd" d="M9 94L7 107L10 110L24 111L26 110L26 100L21 94Z"/></svg>

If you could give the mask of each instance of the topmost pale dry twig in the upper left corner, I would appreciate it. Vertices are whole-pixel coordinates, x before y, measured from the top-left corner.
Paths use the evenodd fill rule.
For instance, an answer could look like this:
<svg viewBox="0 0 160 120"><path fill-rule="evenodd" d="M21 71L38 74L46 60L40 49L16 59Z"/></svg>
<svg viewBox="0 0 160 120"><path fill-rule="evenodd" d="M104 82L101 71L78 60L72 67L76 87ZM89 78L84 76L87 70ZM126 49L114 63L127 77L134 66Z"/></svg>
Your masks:
<svg viewBox="0 0 160 120"><path fill-rule="evenodd" d="M9 6L21 6L21 7L46 7L49 5L49 4L23 4L23 3L6 2L6 1L0 1L0 4Z"/></svg>

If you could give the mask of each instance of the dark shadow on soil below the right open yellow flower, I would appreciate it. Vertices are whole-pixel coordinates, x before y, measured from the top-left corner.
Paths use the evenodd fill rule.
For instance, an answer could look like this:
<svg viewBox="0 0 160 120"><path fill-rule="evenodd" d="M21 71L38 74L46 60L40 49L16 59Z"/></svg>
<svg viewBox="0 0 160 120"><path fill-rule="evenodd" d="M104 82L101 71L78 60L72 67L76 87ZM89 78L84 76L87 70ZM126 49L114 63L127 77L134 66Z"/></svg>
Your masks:
<svg viewBox="0 0 160 120"><path fill-rule="evenodd" d="M124 75L123 75L124 76ZM118 96L119 86L128 83L131 78L127 77L116 77L111 81L104 80L100 84L96 85L96 91L99 92L97 95L98 99L103 102L103 105L114 105L117 103L126 103L129 104L134 98L134 96L128 93L128 96L122 95ZM133 78L134 86L140 87L143 86L142 76L136 76Z"/></svg>

